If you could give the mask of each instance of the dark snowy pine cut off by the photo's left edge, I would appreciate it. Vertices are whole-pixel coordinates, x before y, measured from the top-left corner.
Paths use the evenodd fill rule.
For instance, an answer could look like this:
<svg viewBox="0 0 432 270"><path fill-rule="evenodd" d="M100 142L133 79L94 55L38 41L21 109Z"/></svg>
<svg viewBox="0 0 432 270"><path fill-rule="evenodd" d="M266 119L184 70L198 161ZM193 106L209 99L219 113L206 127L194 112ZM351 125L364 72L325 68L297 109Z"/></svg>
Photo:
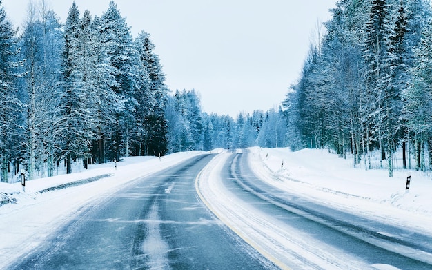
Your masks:
<svg viewBox="0 0 432 270"><path fill-rule="evenodd" d="M6 12L0 0L0 173L1 181L8 182L10 161L18 157L21 131L18 126L19 111L23 108L17 97L17 68L22 64L17 61L16 31L6 19Z"/></svg>

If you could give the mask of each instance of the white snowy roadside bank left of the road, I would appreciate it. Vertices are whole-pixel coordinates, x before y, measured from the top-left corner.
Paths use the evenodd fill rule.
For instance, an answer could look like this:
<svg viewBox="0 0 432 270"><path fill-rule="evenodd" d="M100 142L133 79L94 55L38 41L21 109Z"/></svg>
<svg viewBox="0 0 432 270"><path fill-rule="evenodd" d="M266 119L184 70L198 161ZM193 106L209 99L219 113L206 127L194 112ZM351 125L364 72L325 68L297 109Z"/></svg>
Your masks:
<svg viewBox="0 0 432 270"><path fill-rule="evenodd" d="M97 204L132 180L202 153L175 153L161 157L161 160L159 157L129 157L124 162L117 162L117 169L113 163L101 164L82 173L28 181L25 193L21 183L1 183L0 192L15 202L0 206L0 269L38 247L50 233L85 211L90 203ZM68 189L38 193L51 186L106 174L112 176Z"/></svg>

